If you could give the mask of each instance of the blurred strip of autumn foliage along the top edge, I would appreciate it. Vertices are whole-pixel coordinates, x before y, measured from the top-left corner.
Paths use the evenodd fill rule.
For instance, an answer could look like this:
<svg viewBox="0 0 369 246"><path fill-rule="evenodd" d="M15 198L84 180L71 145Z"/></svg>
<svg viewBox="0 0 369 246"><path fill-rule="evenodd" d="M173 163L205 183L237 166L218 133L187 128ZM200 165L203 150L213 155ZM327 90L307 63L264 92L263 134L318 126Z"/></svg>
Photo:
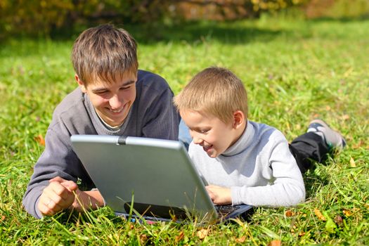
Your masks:
<svg viewBox="0 0 369 246"><path fill-rule="evenodd" d="M20 35L67 38L103 22L171 26L277 12L309 19L367 18L369 0L1 0L0 39Z"/></svg>

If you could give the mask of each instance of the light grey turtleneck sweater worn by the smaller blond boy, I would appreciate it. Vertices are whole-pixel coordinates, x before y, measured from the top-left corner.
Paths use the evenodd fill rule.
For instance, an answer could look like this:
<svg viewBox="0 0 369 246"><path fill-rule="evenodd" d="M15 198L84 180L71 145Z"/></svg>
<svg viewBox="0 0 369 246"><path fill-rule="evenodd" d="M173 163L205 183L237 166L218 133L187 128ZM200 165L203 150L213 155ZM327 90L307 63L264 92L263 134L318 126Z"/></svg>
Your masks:
<svg viewBox="0 0 369 246"><path fill-rule="evenodd" d="M216 158L194 143L188 152L209 184L231 188L233 205L281 207L304 202L302 174L285 136L273 127L248 121L238 141Z"/></svg>

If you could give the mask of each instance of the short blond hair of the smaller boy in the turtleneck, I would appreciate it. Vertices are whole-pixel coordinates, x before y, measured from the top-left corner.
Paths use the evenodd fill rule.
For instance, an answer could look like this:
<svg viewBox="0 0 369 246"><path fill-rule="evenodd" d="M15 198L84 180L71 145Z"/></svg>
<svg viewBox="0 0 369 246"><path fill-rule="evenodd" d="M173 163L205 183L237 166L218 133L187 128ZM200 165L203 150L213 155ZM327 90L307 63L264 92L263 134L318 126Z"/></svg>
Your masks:
<svg viewBox="0 0 369 246"><path fill-rule="evenodd" d="M202 111L227 124L236 110L242 111L247 118L245 86L233 72L222 67L209 67L195 75L174 97L174 105L180 112Z"/></svg>

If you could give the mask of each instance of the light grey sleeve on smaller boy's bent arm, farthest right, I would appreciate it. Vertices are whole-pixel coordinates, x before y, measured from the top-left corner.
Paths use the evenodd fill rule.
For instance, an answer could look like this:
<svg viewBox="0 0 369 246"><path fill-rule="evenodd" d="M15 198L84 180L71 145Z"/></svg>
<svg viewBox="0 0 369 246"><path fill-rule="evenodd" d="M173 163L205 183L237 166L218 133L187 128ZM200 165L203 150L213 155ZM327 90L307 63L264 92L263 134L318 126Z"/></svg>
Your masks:
<svg viewBox="0 0 369 246"><path fill-rule="evenodd" d="M271 152L266 155L271 181L266 186L231 187L233 205L247 204L253 206L283 207L294 206L305 200L305 187L302 174L296 160L290 153L287 140L276 140ZM268 171L264 170L265 175Z"/></svg>

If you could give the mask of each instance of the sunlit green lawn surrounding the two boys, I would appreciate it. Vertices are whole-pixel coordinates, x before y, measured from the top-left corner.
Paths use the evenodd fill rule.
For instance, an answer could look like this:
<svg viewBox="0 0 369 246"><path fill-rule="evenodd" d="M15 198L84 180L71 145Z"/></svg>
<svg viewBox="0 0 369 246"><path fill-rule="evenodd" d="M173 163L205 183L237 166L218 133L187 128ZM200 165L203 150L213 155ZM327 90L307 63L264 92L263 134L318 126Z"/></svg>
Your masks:
<svg viewBox="0 0 369 246"><path fill-rule="evenodd" d="M162 75L175 93L205 67L228 67L247 87L250 119L292 140L322 117L347 138L347 148L306 174L304 204L257 208L247 221L133 224L108 207L35 220L22 209L22 195L44 148L35 138L44 136L53 108L77 86L73 40L8 40L0 48L1 244L369 244L368 20L261 18L127 30L138 39L141 69Z"/></svg>

